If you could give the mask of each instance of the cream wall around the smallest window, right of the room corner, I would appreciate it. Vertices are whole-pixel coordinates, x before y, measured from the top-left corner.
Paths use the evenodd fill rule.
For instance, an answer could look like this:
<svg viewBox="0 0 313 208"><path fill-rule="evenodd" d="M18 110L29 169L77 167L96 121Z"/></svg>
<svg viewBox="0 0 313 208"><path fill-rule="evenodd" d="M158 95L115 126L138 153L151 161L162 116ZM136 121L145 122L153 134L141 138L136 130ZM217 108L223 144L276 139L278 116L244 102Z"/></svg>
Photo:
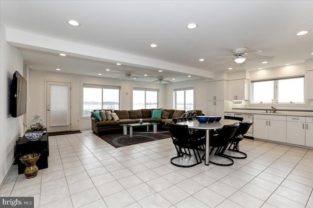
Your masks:
<svg viewBox="0 0 313 208"><path fill-rule="evenodd" d="M166 106L165 108L174 109L174 89L194 87L195 106L196 110L202 110L206 114L206 84L205 79L191 80L187 82L168 83L166 84Z"/></svg>

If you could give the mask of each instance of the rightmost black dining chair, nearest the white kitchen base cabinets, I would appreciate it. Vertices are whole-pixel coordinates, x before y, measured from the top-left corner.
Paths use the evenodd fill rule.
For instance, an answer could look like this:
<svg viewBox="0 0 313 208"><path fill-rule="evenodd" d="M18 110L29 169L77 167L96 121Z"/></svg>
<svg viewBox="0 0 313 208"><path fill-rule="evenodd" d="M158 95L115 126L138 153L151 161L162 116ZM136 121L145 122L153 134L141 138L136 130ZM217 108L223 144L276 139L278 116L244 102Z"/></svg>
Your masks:
<svg viewBox="0 0 313 208"><path fill-rule="evenodd" d="M239 123L239 128L236 130L235 135L229 140L230 143L229 143L229 146L228 146L227 150L240 153L240 154L242 154L244 156L236 157L236 156L231 156L231 155L228 155L228 154L224 154L227 146L225 146L224 149L221 152L224 156L231 157L231 158L236 158L236 159L244 159L244 158L247 157L245 152L239 151L239 142L244 139L244 135L246 134L246 132L248 131L248 129L250 128L250 126L252 124L253 124L252 121L246 121L246 122Z"/></svg>

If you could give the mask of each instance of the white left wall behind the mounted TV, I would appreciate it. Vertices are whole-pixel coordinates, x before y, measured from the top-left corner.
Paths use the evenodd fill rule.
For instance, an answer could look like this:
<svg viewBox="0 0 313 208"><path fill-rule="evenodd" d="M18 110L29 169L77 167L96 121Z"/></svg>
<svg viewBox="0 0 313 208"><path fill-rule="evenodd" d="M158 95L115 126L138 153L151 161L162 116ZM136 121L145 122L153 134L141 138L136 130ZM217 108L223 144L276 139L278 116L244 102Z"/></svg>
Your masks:
<svg viewBox="0 0 313 208"><path fill-rule="evenodd" d="M17 48L6 42L5 27L0 24L0 183L14 160L15 141L23 135L21 117L10 113L10 90L13 73L23 75L23 59Z"/></svg>

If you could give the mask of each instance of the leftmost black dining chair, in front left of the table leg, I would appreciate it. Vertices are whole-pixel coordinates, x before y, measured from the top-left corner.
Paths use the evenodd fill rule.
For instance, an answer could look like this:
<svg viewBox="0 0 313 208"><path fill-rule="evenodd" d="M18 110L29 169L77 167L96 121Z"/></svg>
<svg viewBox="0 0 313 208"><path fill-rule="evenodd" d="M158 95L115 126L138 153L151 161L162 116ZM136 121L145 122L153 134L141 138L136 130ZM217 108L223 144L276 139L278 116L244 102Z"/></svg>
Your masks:
<svg viewBox="0 0 313 208"><path fill-rule="evenodd" d="M190 134L188 125L177 125L168 122L166 122L165 125L170 132L173 144L177 150L177 156L171 159L171 164L179 167L192 167L202 163L199 153L199 150L201 150L199 146L202 144L200 140L198 140L194 135ZM190 149L193 150L193 155L191 154ZM186 150L188 150L188 152ZM176 158L183 157L185 155L188 155L189 157L194 156L196 163L191 165L180 165L175 163Z"/></svg>

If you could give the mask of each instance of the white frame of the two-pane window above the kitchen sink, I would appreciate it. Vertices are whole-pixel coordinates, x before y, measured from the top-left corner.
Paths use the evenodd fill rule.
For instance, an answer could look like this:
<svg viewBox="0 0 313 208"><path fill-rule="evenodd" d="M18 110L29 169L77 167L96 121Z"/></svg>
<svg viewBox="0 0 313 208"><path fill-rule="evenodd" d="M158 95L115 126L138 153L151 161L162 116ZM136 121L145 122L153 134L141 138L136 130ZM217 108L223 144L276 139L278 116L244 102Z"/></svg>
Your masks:
<svg viewBox="0 0 313 208"><path fill-rule="evenodd" d="M293 78L303 78L303 98L304 98L304 102L303 103L276 103L278 100L278 81L280 80L285 80L285 79L293 79ZM274 98L273 98L273 103L252 103L253 102L253 83L256 82L263 82L263 81L273 81L274 82ZM307 99L306 99L306 91L305 91L305 86L306 86L306 79L304 75L300 75L300 76L292 76L292 77L282 77L282 78L275 78L275 79L264 79L264 80L254 80L251 81L251 99L250 99L250 105L264 105L264 106L268 106L268 105L275 105L275 106L290 106L290 105L296 105L296 106L306 106L307 105Z"/></svg>

